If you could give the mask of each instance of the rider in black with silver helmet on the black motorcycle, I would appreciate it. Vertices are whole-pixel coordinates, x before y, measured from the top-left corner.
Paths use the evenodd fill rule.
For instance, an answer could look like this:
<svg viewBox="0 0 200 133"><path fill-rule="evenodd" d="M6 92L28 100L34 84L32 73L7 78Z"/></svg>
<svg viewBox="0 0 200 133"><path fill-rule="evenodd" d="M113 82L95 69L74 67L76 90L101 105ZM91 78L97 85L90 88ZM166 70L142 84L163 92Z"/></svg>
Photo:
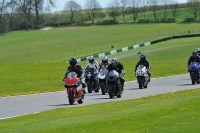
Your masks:
<svg viewBox="0 0 200 133"><path fill-rule="evenodd" d="M120 82L122 84L122 90L124 90L124 75L125 75L125 70L124 70L124 66L118 61L117 58L112 58L111 60L111 64L108 65L108 72L111 70L115 70L119 73L119 79Z"/></svg>

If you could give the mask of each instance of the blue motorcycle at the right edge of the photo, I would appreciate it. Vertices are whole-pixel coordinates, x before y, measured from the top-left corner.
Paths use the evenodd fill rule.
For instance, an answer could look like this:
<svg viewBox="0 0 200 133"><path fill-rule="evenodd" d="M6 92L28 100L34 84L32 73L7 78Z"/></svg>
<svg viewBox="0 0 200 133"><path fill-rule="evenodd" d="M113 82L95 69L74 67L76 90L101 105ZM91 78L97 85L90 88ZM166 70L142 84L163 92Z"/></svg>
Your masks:
<svg viewBox="0 0 200 133"><path fill-rule="evenodd" d="M191 62L188 71L190 72L192 84L199 83L199 79L197 78L197 74L199 73L199 63Z"/></svg>

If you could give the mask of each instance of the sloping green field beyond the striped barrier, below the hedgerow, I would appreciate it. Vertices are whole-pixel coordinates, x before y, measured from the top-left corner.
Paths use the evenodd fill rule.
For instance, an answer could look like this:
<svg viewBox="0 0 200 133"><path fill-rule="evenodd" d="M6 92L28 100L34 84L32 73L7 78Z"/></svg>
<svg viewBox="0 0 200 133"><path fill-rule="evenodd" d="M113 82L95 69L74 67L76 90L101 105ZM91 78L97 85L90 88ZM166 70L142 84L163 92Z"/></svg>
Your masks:
<svg viewBox="0 0 200 133"><path fill-rule="evenodd" d="M65 62L70 57L152 41L199 33L199 24L142 24L54 28L49 31L15 31L0 36L0 64Z"/></svg>

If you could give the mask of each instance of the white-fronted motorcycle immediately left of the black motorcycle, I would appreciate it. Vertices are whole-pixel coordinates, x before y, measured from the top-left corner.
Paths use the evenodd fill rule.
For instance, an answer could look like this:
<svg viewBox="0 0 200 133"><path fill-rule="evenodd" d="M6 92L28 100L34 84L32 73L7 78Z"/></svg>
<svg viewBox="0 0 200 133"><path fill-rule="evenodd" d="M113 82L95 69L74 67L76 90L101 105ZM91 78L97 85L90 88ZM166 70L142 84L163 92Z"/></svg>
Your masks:
<svg viewBox="0 0 200 133"><path fill-rule="evenodd" d="M101 88L102 95L105 95L107 92L106 73L107 73L106 69L100 69L98 74L99 86Z"/></svg>

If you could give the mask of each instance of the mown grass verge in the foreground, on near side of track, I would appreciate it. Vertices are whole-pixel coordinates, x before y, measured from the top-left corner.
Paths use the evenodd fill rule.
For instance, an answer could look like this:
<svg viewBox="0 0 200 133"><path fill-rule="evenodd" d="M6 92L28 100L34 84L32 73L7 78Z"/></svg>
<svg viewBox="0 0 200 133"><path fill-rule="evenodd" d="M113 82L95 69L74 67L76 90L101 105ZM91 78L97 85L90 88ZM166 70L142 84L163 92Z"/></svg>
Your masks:
<svg viewBox="0 0 200 133"><path fill-rule="evenodd" d="M0 132L198 133L200 89L55 109L0 121Z"/></svg>

